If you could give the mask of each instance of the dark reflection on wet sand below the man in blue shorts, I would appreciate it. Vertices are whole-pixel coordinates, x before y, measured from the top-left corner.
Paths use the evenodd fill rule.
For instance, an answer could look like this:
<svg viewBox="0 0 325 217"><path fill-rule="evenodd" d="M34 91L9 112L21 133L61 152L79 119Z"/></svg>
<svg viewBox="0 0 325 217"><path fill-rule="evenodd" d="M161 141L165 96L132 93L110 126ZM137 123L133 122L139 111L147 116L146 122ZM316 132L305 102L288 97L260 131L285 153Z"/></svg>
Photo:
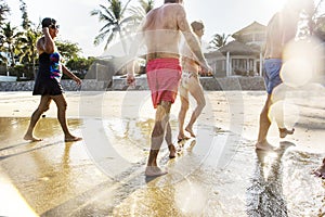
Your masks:
<svg viewBox="0 0 325 217"><path fill-rule="evenodd" d="M280 149L274 153L256 151L255 173L246 192L248 216L288 216L283 196L282 157L291 145L295 144L281 142Z"/></svg>

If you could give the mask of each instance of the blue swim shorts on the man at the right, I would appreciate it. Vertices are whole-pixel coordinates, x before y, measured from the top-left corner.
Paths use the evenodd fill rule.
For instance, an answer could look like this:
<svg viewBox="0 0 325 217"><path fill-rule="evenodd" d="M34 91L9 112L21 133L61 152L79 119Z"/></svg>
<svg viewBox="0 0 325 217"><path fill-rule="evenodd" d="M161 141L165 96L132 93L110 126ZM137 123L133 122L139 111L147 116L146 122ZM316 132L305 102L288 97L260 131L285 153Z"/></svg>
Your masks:
<svg viewBox="0 0 325 217"><path fill-rule="evenodd" d="M280 77L281 67L282 67L281 59L266 59L264 61L264 68L265 68L264 81L265 81L266 92L269 94L272 93L273 89L276 86L282 84L282 79Z"/></svg>

